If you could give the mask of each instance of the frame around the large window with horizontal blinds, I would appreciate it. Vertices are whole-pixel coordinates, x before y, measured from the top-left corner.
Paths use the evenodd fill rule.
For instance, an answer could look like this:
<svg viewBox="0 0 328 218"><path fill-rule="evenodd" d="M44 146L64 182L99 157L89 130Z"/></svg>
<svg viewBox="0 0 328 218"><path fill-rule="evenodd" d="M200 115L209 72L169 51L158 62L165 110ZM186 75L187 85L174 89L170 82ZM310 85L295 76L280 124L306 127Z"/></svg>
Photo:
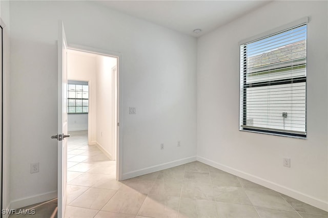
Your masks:
<svg viewBox="0 0 328 218"><path fill-rule="evenodd" d="M309 23L309 17L303 17L299 20L296 20L290 24L281 26L279 28L273 29L271 31L253 36L251 38L248 39L244 39L242 41L239 42L239 55L240 55L240 60L239 60L239 64L240 64L240 71L239 71L239 130L240 131L244 131L244 132L254 132L254 133L261 133L261 134L269 134L269 135L277 135L277 136L284 136L284 137L292 137L292 138L301 138L301 139L306 139L307 137L307 128L306 128L306 74L305 76L302 77L297 77L297 78L283 78L283 79L277 79L275 81L273 80L268 80L267 83L270 84L272 82L275 82L276 84L292 84L292 83L297 83L297 82L305 82L305 130L304 130L304 134L300 134L298 131L293 131L293 130L284 130L284 129L276 129L276 128L262 128L259 126L248 126L247 123L247 119L246 119L246 114L247 114L247 88L249 88L249 84L247 83L247 77L245 76L245 74L247 73L247 44L248 43L252 43L254 41L257 40L261 40L265 37L271 37L275 34L279 34L281 32L285 32L303 25L306 25L306 32L308 29L308 23ZM306 39L308 38L308 36L306 35ZM306 44L306 51L307 51L307 44ZM306 54L307 57L307 54ZM291 67L296 67L295 66L291 66ZM306 69L306 59L305 59L305 69ZM241 78L241 76L243 76L243 78ZM295 80L294 80L295 79ZM293 81L294 80L294 81ZM296 82L295 82L296 81ZM261 83L261 84L260 84ZM270 85L265 85L265 82L261 81L258 82L258 86L270 86ZM253 86L254 83L252 83L251 87ZM256 85L256 82L255 82ZM248 87L249 86L249 87ZM242 96L241 96L242 94ZM241 107L242 106L242 107Z"/></svg>

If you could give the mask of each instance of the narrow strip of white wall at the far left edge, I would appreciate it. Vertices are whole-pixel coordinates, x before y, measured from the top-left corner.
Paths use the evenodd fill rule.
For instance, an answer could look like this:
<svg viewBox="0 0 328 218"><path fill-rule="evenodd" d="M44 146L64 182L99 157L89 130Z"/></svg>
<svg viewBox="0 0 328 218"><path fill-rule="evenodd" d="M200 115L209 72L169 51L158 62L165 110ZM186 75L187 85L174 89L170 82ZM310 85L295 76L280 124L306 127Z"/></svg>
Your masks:
<svg viewBox="0 0 328 218"><path fill-rule="evenodd" d="M3 208L10 207L10 16L9 2L0 1L0 18L5 27L3 28ZM4 215L6 217L6 214Z"/></svg>

